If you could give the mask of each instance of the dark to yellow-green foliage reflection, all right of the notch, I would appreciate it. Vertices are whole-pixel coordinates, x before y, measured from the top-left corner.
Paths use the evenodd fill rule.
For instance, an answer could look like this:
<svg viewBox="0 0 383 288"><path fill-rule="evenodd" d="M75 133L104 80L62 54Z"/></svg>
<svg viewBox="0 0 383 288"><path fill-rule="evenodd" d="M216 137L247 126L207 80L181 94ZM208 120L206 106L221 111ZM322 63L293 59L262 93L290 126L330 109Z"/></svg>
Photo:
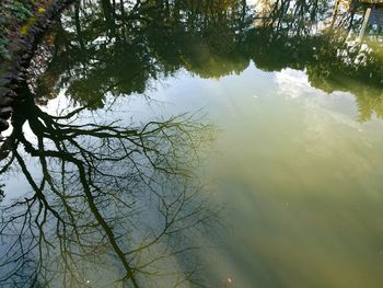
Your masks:
<svg viewBox="0 0 383 288"><path fill-rule="evenodd" d="M312 87L327 93L350 92L356 96L359 120L374 113L383 118L383 54L380 44L367 48L348 43L343 34L327 32L305 37L277 34L258 28L248 37L249 55L257 68L280 71L305 70Z"/></svg>

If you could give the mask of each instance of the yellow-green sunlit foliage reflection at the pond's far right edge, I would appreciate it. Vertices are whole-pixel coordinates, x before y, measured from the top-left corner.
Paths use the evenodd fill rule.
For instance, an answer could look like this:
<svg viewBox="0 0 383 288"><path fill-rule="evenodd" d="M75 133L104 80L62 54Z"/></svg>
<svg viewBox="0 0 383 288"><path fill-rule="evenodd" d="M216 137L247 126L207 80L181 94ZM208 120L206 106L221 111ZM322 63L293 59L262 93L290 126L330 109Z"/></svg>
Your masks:
<svg viewBox="0 0 383 288"><path fill-rule="evenodd" d="M351 92L356 95L359 120L369 120L372 114L383 118L383 55L382 47L370 44L349 44L332 38L329 46L317 50L321 61L306 66L311 85L327 93ZM337 55L334 57L334 55Z"/></svg>

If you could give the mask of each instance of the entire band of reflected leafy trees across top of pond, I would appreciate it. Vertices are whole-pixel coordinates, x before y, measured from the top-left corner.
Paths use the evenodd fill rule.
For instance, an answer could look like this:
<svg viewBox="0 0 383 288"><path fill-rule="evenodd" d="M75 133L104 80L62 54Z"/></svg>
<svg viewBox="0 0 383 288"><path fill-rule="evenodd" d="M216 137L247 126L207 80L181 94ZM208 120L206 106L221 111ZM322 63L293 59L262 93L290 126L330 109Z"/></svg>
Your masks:
<svg viewBox="0 0 383 288"><path fill-rule="evenodd" d="M66 88L73 101L95 108L107 94L146 93L152 80L181 69L220 78L253 60L265 71L305 70L310 83L326 92L353 93L361 120L383 114L381 46L347 41L360 26L359 5L332 23L328 1L264 2L255 12L240 0L74 5L42 46L51 61L34 88L40 101ZM324 24L336 33L318 33Z"/></svg>

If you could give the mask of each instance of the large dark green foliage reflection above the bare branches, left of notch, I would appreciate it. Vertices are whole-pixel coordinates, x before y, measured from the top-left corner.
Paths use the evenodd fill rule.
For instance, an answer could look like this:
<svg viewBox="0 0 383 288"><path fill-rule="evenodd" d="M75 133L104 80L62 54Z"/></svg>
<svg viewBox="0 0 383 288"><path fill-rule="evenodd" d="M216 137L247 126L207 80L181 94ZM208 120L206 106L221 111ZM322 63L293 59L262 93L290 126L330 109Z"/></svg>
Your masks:
<svg viewBox="0 0 383 288"><path fill-rule="evenodd" d="M130 10L101 3L73 7L57 25L37 94L68 87L74 101L100 107L105 93L143 93L150 80L181 68L219 78L249 64L237 47L252 21L245 1L142 1Z"/></svg>

